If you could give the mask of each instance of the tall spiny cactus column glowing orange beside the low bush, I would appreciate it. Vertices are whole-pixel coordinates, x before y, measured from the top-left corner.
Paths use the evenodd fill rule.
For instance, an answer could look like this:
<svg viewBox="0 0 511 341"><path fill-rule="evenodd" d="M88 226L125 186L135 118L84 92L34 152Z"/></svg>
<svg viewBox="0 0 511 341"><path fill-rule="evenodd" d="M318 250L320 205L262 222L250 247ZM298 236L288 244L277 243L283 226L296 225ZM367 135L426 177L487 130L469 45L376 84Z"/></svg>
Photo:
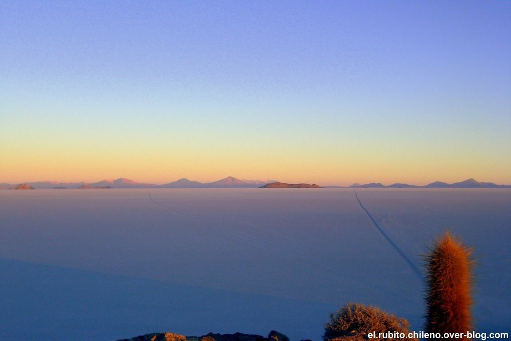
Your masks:
<svg viewBox="0 0 511 341"><path fill-rule="evenodd" d="M472 249L447 231L445 236L433 243L425 260L428 284L426 331L471 331Z"/></svg>

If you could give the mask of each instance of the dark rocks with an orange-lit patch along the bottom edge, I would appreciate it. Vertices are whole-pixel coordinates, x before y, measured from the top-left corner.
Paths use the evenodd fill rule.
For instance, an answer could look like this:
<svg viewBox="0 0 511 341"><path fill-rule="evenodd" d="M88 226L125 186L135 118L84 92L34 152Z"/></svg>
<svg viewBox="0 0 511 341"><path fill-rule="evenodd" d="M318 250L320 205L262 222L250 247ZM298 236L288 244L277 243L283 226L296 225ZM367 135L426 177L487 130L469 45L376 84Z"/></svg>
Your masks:
<svg viewBox="0 0 511 341"><path fill-rule="evenodd" d="M173 333L153 333L141 335L133 338L125 338L119 341L289 341L289 338L276 332L270 331L268 337L250 334L213 334L204 336L184 336Z"/></svg>

